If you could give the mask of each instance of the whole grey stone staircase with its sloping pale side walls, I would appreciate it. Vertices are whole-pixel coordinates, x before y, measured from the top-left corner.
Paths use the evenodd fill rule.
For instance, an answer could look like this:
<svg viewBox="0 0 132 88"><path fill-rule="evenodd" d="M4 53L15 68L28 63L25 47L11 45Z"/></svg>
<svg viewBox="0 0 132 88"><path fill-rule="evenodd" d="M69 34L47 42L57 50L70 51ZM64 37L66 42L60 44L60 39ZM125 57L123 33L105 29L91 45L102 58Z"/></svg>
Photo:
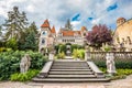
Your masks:
<svg viewBox="0 0 132 88"><path fill-rule="evenodd" d="M96 69L96 70L95 70ZM95 82L109 81L103 74L85 61L54 61L32 79L35 82Z"/></svg>

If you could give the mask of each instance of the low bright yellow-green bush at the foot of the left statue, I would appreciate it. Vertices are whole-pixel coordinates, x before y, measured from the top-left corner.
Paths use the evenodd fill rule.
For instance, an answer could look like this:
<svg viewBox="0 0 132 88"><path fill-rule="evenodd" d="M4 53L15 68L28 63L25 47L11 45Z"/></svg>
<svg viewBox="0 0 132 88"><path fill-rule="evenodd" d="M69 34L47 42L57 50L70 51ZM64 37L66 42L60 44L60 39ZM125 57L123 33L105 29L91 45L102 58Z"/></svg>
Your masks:
<svg viewBox="0 0 132 88"><path fill-rule="evenodd" d="M34 76L36 76L40 73L38 69L30 69L29 72L21 74L15 73L10 76L10 80L12 81L28 81L31 80Z"/></svg>

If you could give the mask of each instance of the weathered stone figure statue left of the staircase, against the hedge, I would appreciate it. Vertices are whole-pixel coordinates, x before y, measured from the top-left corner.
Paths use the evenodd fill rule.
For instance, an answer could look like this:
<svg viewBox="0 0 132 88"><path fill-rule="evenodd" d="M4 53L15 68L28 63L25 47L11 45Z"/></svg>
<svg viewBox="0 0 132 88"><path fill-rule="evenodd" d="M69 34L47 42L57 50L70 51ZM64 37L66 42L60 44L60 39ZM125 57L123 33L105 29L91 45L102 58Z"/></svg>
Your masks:
<svg viewBox="0 0 132 88"><path fill-rule="evenodd" d="M20 63L20 72L21 73L26 73L28 69L30 68L31 66L31 57L29 54L25 54L22 59L21 59L21 63Z"/></svg>

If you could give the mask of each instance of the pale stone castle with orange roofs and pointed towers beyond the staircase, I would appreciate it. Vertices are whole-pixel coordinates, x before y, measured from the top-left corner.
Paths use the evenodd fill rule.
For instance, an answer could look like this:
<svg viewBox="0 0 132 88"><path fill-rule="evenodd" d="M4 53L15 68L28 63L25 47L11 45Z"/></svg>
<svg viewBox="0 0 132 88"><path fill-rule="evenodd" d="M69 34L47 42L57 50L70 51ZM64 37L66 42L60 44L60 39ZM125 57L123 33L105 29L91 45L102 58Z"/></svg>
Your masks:
<svg viewBox="0 0 132 88"><path fill-rule="evenodd" d="M55 26L51 29L48 20L45 20L41 25L38 51L41 52L45 47L66 43L84 45L86 33L87 29L85 26L81 26L80 31L73 31L69 20L65 28L61 28L58 33L56 33Z"/></svg>

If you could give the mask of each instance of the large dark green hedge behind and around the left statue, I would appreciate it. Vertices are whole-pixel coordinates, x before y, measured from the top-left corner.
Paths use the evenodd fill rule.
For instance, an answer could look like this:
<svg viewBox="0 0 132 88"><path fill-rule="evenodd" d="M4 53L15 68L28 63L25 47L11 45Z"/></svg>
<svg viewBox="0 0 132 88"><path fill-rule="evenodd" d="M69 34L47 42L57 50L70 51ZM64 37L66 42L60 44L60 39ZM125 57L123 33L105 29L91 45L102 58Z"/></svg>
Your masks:
<svg viewBox="0 0 132 88"><path fill-rule="evenodd" d="M47 57L32 51L11 51L0 53L0 79L9 79L11 74L20 72L20 62L24 54L29 54L31 56L32 59L30 68L32 69L41 69L47 61Z"/></svg>

